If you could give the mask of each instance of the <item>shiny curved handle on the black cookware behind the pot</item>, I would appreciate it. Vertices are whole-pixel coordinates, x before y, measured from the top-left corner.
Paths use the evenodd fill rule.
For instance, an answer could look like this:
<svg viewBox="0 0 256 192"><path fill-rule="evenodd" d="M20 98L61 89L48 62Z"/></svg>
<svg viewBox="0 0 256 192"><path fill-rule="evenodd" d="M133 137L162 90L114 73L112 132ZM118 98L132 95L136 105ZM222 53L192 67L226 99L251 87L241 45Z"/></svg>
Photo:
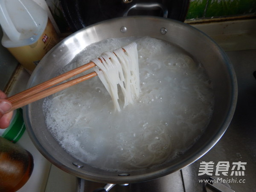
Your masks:
<svg viewBox="0 0 256 192"><path fill-rule="evenodd" d="M133 6L131 6L129 9L127 9L124 13L124 17L126 17L128 15L128 12L130 12L132 9L162 9L163 11L163 17L167 18L168 16L168 9L163 6L160 3L136 3Z"/></svg>

